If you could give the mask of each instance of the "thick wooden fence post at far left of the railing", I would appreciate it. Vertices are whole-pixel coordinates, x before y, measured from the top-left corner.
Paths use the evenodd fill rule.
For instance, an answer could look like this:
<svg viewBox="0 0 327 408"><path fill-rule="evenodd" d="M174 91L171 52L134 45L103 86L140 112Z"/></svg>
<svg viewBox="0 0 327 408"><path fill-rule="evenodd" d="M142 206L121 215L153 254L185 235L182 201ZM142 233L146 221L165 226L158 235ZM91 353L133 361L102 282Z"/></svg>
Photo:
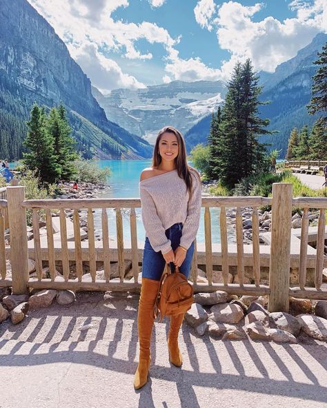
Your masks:
<svg viewBox="0 0 327 408"><path fill-rule="evenodd" d="M25 187L7 187L8 218L10 228L10 263L12 267L12 292L28 293L28 239Z"/></svg>

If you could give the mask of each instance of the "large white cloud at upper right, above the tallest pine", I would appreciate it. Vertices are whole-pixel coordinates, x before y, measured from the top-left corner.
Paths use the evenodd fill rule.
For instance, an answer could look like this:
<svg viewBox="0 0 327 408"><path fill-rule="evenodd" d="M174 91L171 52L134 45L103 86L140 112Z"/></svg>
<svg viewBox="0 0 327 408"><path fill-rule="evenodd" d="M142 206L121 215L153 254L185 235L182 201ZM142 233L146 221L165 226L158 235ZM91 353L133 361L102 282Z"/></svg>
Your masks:
<svg viewBox="0 0 327 408"><path fill-rule="evenodd" d="M204 0L199 1L197 7ZM208 14L202 20L196 20L208 30L213 26L217 30L217 39L222 49L228 50L231 57L223 61L221 75L228 79L236 61L250 58L255 70L275 71L280 63L295 57L300 48L312 41L315 34L326 31L326 0L292 1L290 7L297 12L297 18L279 21L266 17L261 21L252 21L252 17L264 3L255 6L243 6L237 1L222 3L216 13Z"/></svg>

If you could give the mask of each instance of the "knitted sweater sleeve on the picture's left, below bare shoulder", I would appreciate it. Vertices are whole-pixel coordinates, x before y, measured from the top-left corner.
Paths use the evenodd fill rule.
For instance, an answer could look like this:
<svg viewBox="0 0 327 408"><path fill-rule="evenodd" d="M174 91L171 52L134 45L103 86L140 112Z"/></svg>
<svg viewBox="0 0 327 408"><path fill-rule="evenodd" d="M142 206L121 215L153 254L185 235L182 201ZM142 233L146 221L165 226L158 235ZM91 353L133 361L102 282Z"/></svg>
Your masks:
<svg viewBox="0 0 327 408"><path fill-rule="evenodd" d="M162 254L169 252L171 241L166 237L164 226L157 214L157 208L152 196L142 186L139 188L141 197L141 217L146 236L155 252L161 251Z"/></svg>

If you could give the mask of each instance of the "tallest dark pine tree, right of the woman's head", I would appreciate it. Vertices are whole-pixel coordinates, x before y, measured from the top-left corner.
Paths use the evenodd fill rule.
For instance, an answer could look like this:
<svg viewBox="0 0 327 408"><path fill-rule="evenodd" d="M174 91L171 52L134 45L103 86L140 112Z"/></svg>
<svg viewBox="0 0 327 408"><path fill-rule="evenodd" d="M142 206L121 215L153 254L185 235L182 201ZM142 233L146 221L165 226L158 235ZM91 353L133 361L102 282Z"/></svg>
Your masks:
<svg viewBox="0 0 327 408"><path fill-rule="evenodd" d="M249 59L243 65L235 65L219 125L219 176L221 183L228 187L234 187L250 174L268 170L265 146L257 138L273 132L266 130L269 120L258 115L259 105L266 104L258 100L262 91L258 82Z"/></svg>

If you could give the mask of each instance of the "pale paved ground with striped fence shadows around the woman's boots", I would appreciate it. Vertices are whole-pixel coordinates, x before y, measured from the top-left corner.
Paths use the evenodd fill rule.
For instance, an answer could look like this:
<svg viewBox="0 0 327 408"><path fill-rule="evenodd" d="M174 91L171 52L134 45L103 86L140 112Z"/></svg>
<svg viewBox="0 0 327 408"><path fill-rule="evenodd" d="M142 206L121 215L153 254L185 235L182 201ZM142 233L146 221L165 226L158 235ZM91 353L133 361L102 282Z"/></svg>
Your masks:
<svg viewBox="0 0 327 408"><path fill-rule="evenodd" d="M199 338L183 325L182 369L170 367L167 322L156 323L151 380L137 367L137 298L79 294L71 307L0 325L1 408L327 407L327 344ZM92 324L86 332L78 327Z"/></svg>

